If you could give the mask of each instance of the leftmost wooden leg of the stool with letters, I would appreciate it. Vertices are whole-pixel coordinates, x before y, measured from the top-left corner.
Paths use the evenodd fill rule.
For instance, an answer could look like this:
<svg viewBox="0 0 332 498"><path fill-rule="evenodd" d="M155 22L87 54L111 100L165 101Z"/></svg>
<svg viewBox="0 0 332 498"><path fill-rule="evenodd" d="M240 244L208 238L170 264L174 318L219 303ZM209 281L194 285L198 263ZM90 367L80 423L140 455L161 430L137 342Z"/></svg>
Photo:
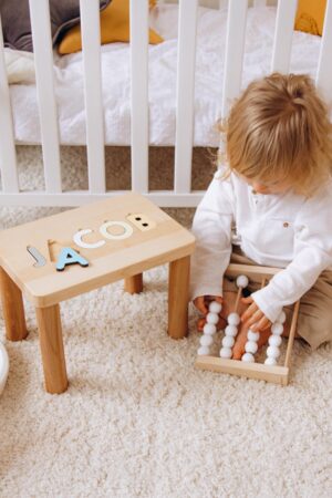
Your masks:
<svg viewBox="0 0 332 498"><path fill-rule="evenodd" d="M0 294L9 341L22 341L28 335L22 292L0 267Z"/></svg>

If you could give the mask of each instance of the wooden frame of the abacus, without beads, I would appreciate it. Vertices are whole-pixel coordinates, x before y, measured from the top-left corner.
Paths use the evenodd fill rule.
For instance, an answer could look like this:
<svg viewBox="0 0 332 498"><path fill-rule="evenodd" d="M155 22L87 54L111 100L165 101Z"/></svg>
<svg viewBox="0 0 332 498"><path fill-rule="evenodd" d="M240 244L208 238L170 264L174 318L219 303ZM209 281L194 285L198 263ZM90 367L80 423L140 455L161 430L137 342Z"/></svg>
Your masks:
<svg viewBox="0 0 332 498"><path fill-rule="evenodd" d="M246 274L249 279L250 277L270 279L273 274L278 273L278 271L280 271L280 268L231 263L226 270L226 276L238 277L239 274ZM227 360L212 355L198 355L196 357L195 367L287 385L289 383L291 352L297 331L299 307L300 301L297 301L293 307L283 365L270 366L262 363L243 363L239 360Z"/></svg>

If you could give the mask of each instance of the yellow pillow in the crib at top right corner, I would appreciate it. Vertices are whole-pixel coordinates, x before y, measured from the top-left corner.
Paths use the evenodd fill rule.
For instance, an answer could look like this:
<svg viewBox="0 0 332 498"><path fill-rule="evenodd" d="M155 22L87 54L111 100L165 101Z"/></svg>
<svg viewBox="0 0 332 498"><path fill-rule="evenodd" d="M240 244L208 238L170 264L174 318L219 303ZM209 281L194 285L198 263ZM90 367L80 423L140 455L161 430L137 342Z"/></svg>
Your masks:
<svg viewBox="0 0 332 498"><path fill-rule="evenodd" d="M326 0L299 0L295 30L322 35L325 7Z"/></svg>

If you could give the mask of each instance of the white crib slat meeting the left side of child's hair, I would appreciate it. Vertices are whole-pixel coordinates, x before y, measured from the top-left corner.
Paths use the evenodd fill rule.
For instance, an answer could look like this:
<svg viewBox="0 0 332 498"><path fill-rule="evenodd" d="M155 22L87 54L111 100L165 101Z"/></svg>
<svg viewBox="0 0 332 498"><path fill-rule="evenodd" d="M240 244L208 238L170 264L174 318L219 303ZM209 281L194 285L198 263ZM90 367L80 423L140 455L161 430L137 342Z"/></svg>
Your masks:
<svg viewBox="0 0 332 498"><path fill-rule="evenodd" d="M226 117L232 100L239 94L246 40L247 0L229 3L226 33L226 56L222 84L221 118Z"/></svg>

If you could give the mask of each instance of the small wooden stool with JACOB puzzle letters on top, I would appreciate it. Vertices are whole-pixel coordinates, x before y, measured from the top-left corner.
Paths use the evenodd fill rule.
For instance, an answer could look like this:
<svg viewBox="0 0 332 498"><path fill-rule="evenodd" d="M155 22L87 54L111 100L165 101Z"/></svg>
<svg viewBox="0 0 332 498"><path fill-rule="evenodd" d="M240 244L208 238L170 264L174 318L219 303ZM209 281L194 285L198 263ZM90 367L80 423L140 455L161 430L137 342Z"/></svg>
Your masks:
<svg viewBox="0 0 332 498"><path fill-rule="evenodd" d="M126 291L141 292L142 272L167 262L168 334L181 339L188 326L194 246L189 231L136 194L3 230L0 290L7 338L21 341L28 334L23 292L37 310L45 390L63 393L68 377L59 303L120 279ZM81 263L70 264L75 261L65 248L74 250ZM63 260L64 269L56 271Z"/></svg>

